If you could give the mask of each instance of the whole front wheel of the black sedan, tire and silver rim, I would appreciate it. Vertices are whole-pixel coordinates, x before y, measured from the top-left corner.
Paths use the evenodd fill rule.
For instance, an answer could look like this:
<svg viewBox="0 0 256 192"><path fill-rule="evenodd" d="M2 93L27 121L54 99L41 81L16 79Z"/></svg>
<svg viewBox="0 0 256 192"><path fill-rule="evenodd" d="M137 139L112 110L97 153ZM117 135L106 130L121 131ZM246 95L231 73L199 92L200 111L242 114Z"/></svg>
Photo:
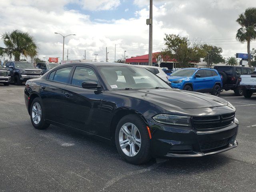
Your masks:
<svg viewBox="0 0 256 192"><path fill-rule="evenodd" d="M116 148L119 155L131 164L150 160L150 138L145 122L135 114L124 116L116 127Z"/></svg>

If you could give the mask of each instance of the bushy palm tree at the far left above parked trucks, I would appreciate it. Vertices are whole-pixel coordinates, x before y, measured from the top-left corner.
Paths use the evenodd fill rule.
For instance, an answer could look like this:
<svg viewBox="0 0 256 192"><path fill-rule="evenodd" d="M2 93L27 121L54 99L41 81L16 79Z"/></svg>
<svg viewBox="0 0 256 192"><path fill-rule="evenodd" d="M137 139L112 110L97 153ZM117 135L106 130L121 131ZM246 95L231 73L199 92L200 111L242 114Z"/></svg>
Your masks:
<svg viewBox="0 0 256 192"><path fill-rule="evenodd" d="M0 55L7 55L9 58L14 57L15 61L20 60L20 54L25 57L34 57L38 53L38 46L34 37L27 32L14 30L11 33L5 32L1 35L5 48L0 47Z"/></svg>

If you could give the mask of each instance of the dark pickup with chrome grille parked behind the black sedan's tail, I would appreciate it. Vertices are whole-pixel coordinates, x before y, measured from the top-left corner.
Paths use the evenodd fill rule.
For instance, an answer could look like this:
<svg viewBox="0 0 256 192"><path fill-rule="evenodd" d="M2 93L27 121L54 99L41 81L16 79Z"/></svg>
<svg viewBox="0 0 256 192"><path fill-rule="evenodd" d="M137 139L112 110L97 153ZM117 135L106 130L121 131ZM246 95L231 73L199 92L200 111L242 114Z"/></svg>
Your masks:
<svg viewBox="0 0 256 192"><path fill-rule="evenodd" d="M11 81L16 85L21 85L22 82L32 78L41 77L43 74L41 69L35 68L31 63L23 61L8 61L5 68L10 71Z"/></svg>

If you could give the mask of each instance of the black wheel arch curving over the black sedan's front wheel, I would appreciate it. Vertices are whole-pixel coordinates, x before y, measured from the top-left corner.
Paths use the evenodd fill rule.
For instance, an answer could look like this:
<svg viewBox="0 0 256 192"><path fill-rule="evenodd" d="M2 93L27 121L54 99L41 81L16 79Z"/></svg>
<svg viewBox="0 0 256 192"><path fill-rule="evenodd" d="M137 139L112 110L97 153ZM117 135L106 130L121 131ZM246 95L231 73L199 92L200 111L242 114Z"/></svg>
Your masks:
<svg viewBox="0 0 256 192"><path fill-rule="evenodd" d="M146 118L138 111L127 109L127 108L118 108L114 112L114 116L111 120L110 124L110 139L112 142L115 141L115 132L116 132L116 126L118 122L126 115L135 114L138 115L142 120L145 122L146 125L148 125L148 122Z"/></svg>

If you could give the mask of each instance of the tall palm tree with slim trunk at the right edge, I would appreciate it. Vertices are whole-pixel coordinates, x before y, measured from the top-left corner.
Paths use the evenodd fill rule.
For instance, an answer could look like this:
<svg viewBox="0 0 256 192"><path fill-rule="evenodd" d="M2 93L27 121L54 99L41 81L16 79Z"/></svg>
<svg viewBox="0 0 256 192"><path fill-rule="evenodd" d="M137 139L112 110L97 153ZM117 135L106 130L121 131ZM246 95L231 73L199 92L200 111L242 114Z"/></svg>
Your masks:
<svg viewBox="0 0 256 192"><path fill-rule="evenodd" d="M250 42L256 39L256 7L247 8L236 20L240 24L236 39L241 43L247 42L248 64L251 66Z"/></svg>

